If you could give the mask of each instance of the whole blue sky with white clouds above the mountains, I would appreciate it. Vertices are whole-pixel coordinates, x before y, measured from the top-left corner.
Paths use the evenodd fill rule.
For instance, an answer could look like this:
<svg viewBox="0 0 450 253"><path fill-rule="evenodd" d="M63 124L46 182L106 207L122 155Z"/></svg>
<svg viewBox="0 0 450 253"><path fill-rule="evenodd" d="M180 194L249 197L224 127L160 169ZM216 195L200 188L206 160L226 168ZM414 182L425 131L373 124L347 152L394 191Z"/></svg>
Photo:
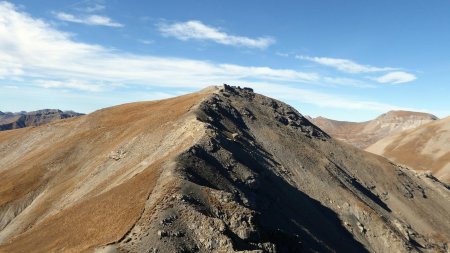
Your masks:
<svg viewBox="0 0 450 253"><path fill-rule="evenodd" d="M92 112L228 83L301 113L450 114L450 2L0 2L0 111Z"/></svg>

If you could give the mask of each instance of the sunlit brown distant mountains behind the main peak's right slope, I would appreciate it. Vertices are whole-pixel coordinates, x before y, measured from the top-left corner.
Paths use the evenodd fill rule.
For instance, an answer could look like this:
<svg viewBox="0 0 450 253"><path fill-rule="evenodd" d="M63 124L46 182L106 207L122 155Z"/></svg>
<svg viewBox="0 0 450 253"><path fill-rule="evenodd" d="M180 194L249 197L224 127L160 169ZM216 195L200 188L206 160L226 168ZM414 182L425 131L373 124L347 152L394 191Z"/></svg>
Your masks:
<svg viewBox="0 0 450 253"><path fill-rule="evenodd" d="M336 139L450 183L450 117L390 111L366 122L310 120Z"/></svg>

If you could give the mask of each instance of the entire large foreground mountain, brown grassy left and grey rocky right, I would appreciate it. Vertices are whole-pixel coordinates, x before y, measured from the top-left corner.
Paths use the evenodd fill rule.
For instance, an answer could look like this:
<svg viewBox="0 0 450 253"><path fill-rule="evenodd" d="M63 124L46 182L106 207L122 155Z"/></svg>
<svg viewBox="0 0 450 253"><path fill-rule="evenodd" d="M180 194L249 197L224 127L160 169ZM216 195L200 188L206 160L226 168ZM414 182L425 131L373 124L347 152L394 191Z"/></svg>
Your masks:
<svg viewBox="0 0 450 253"><path fill-rule="evenodd" d="M249 88L0 133L0 252L448 252L450 189Z"/></svg>

